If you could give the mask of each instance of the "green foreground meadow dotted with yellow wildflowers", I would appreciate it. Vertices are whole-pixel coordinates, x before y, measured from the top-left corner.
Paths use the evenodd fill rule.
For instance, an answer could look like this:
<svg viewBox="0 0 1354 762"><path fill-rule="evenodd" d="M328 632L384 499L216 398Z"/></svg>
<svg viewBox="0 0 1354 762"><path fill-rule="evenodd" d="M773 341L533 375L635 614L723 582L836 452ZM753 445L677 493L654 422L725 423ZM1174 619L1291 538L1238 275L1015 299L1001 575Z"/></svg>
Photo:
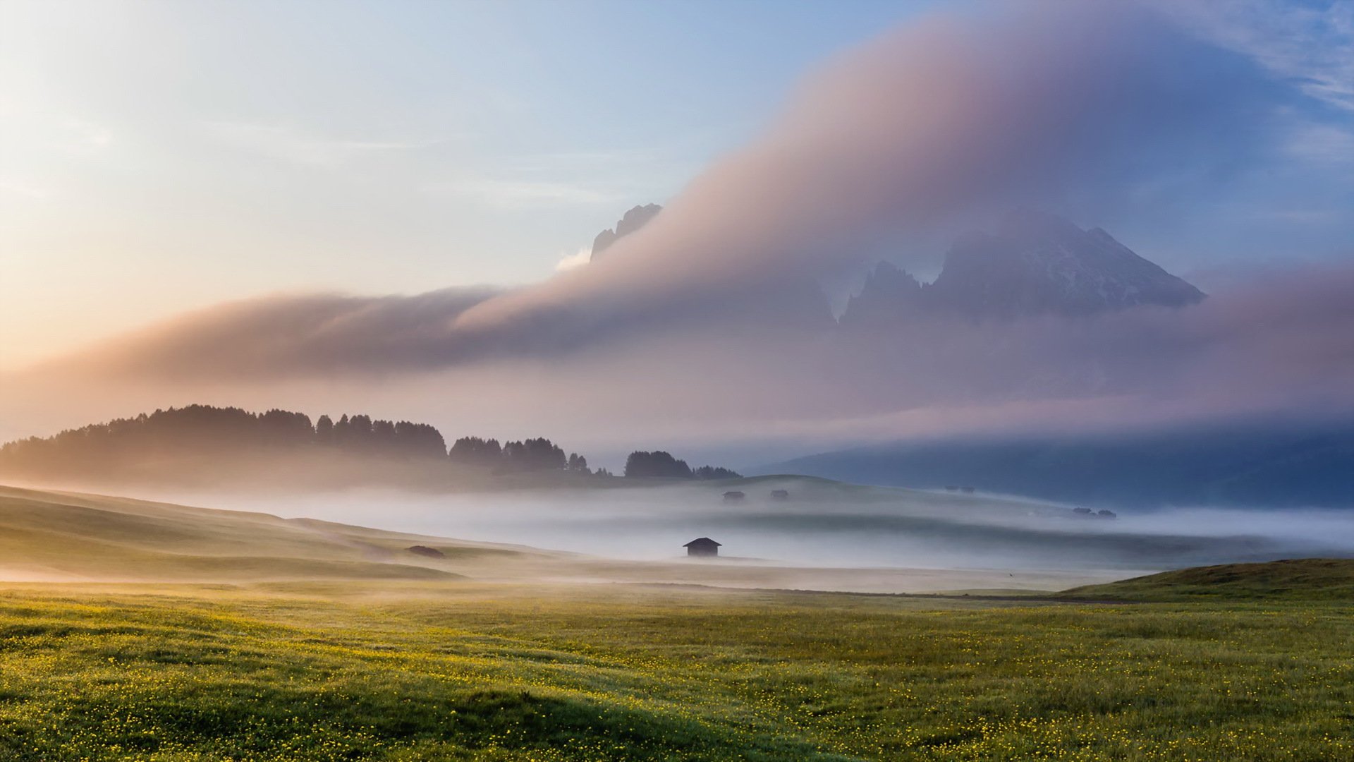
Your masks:
<svg viewBox="0 0 1354 762"><path fill-rule="evenodd" d="M1354 759L1345 599L1094 593L7 584L0 759Z"/></svg>

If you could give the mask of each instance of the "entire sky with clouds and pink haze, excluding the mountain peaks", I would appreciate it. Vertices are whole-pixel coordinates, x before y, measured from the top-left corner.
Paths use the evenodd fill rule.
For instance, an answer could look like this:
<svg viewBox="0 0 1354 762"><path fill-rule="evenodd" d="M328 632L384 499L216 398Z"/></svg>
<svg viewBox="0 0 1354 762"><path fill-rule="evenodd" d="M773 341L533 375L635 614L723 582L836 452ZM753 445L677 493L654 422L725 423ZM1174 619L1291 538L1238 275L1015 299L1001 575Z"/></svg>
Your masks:
<svg viewBox="0 0 1354 762"><path fill-rule="evenodd" d="M772 460L1354 411L1351 50L1350 3L0 4L0 438L203 401ZM787 323L1017 206L1210 297Z"/></svg>

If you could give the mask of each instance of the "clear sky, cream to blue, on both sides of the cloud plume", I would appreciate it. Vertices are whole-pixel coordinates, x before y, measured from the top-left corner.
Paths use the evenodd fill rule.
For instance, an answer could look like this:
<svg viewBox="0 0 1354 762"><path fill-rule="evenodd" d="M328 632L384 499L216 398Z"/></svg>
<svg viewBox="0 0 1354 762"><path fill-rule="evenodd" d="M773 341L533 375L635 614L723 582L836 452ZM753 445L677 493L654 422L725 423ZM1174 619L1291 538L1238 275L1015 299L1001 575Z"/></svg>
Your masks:
<svg viewBox="0 0 1354 762"><path fill-rule="evenodd" d="M756 136L825 58L933 5L11 0L0 366L259 293L546 278ZM1289 153L1078 221L1204 278L1342 256L1354 14L1194 9L1294 94Z"/></svg>

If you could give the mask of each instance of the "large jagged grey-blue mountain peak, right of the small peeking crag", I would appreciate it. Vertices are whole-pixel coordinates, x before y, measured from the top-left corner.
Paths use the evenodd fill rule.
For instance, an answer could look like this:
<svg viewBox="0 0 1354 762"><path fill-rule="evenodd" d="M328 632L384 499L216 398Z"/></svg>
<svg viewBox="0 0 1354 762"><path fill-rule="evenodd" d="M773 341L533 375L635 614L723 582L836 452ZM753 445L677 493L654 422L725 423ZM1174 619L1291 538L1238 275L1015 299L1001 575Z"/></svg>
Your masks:
<svg viewBox="0 0 1354 762"><path fill-rule="evenodd" d="M1083 230L1060 217L1017 210L995 232L960 237L933 283L880 263L848 304L842 324L879 325L914 315L1080 316L1137 305L1186 306L1202 298L1193 285L1101 228Z"/></svg>

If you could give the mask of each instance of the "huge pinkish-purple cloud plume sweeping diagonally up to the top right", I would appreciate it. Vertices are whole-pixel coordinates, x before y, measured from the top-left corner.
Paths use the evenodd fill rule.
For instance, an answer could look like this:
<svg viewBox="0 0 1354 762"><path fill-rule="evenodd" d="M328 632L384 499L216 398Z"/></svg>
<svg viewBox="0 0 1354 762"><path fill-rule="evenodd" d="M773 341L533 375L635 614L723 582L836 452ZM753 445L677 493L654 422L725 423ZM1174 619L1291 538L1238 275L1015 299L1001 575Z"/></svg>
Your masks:
<svg viewBox="0 0 1354 762"><path fill-rule="evenodd" d="M880 236L984 209L1112 206L1150 186L1179 198L1197 190L1192 179L1273 151L1281 104L1255 65L1145 11L1026 4L933 18L810 77L765 136L604 263L487 301L458 325L586 331L787 273L831 275Z"/></svg>

